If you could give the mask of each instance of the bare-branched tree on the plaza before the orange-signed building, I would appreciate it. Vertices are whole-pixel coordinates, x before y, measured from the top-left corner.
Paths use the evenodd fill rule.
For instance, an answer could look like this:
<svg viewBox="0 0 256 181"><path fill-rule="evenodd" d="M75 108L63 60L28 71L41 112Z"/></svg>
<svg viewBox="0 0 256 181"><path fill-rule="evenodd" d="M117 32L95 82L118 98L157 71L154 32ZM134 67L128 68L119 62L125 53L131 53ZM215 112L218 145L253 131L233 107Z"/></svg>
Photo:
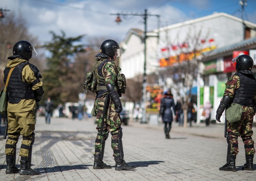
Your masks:
<svg viewBox="0 0 256 181"><path fill-rule="evenodd" d="M181 38L179 33L171 37L169 32L165 32L168 58L165 61L166 68L164 72L171 77L172 90L180 98L184 113L184 127L187 127L188 105L192 96L191 89L193 83L197 80L199 65L202 60L201 52L205 47L204 41L208 36L209 32L204 32L203 27L199 30L196 27L190 27L183 36L185 38Z"/></svg>

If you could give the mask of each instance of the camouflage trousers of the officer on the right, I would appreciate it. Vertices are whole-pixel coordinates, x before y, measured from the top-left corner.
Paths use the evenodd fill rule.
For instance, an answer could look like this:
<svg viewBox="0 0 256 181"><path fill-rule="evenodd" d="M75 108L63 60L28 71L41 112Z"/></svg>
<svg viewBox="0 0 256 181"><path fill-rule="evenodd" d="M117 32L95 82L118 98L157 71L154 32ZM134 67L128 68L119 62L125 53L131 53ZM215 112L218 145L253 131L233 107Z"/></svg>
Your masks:
<svg viewBox="0 0 256 181"><path fill-rule="evenodd" d="M237 155L239 152L237 139L240 136L244 142L245 155L254 155L254 141L252 140L253 115L252 107L243 106L242 120L232 124L228 122L227 131L231 143L231 155Z"/></svg>

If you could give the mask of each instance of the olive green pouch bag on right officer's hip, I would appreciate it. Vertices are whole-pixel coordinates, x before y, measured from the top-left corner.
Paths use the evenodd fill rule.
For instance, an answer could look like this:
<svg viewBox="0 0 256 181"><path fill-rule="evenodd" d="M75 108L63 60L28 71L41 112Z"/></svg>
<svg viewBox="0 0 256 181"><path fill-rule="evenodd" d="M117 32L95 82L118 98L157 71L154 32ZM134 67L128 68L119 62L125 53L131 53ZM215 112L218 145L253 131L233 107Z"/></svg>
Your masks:
<svg viewBox="0 0 256 181"><path fill-rule="evenodd" d="M240 104L232 103L226 110L226 118L229 123L235 123L242 119L243 107Z"/></svg>

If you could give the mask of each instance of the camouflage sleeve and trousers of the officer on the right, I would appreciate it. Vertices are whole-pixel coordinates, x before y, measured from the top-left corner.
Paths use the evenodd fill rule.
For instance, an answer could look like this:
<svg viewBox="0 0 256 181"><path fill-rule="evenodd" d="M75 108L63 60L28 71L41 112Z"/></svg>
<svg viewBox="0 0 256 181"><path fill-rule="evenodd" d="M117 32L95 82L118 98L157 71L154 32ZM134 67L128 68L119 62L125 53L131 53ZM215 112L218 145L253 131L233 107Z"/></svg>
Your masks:
<svg viewBox="0 0 256 181"><path fill-rule="evenodd" d="M226 83L226 90L223 96L229 96L230 98L234 98L236 89L240 87L240 78L237 75L233 75L228 79ZM254 100L256 100L256 95L254 96ZM254 101L253 101L254 102ZM229 134L229 141L231 143L231 155L237 155L239 152L238 149L238 141L237 138L241 136L244 141L244 145L252 145L247 146L245 148L245 155L254 155L255 149L253 148L254 141L252 140L252 122L253 122L253 108L252 107L243 107L243 115L242 120L229 123L227 131ZM246 147L246 146L245 146ZM251 148L248 148L251 147Z"/></svg>

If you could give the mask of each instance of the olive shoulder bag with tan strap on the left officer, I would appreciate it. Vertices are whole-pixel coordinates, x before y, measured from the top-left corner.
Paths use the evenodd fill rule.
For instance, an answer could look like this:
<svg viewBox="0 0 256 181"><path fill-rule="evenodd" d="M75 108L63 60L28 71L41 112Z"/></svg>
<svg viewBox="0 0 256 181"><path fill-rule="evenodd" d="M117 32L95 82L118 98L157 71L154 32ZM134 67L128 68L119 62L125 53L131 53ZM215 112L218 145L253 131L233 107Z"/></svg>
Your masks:
<svg viewBox="0 0 256 181"><path fill-rule="evenodd" d="M6 80L6 83L5 83L5 87L4 89L2 89L2 91L0 92L0 114L5 114L6 113L6 110L7 110L7 105L8 105L8 96L7 96L7 85L8 85L8 82L9 82L9 79L10 79L10 76L12 74L12 70L14 69L15 67L13 67L9 74L8 74L8 77L7 77L7 80Z"/></svg>

